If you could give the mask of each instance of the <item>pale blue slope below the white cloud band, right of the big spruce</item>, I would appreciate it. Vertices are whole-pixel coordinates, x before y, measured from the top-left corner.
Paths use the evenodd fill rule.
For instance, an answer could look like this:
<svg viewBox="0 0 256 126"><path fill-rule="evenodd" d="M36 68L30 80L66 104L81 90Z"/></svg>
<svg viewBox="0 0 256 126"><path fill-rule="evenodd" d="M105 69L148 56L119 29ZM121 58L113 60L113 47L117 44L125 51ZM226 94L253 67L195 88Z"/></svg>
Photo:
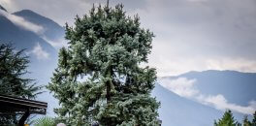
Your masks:
<svg viewBox="0 0 256 126"><path fill-rule="evenodd" d="M161 102L159 109L163 126L211 126L222 111L179 97L156 84L152 95Z"/></svg>

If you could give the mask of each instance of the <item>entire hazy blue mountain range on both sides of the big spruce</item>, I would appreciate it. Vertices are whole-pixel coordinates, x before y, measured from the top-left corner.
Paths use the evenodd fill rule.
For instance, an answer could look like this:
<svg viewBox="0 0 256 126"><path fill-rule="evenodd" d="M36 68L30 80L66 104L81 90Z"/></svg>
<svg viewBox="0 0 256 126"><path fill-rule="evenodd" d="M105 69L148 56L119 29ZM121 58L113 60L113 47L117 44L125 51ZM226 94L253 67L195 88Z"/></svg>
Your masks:
<svg viewBox="0 0 256 126"><path fill-rule="evenodd" d="M0 44L12 43L26 49L31 63L29 78L48 84L57 65L59 47L65 47L65 29L46 16L30 10L13 14L0 5ZM233 109L238 120L255 109L256 74L236 71L189 72L176 77L159 78L152 96L161 102L159 117L163 126L210 126ZM49 92L39 100L48 102L48 115L58 106ZM244 109L240 111L240 109Z"/></svg>

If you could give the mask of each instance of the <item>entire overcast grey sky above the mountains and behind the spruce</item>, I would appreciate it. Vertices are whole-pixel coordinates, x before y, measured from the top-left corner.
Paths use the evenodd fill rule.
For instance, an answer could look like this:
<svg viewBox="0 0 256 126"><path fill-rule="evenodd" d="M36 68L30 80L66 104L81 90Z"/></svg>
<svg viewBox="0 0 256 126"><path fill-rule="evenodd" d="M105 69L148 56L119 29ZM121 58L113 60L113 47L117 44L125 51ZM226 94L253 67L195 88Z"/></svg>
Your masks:
<svg viewBox="0 0 256 126"><path fill-rule="evenodd" d="M9 12L23 9L60 25L106 0L1 0ZM158 76L188 71L256 72L256 0L110 0L123 3L128 15L156 37L148 64ZM96 4L97 5L97 4Z"/></svg>

